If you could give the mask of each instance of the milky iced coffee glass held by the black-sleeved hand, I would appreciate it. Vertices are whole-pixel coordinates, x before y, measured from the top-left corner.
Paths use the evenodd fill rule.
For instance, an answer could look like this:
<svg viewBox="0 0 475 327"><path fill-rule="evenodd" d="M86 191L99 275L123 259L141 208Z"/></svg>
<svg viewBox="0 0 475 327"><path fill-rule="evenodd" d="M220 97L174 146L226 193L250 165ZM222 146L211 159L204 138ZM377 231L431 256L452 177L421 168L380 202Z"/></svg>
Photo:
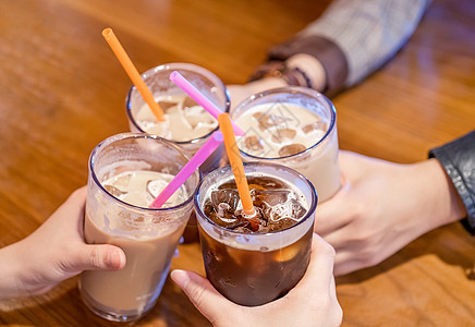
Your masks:
<svg viewBox="0 0 475 327"><path fill-rule="evenodd" d="M283 87L252 95L231 112L246 132L238 137L244 161L272 162L310 180L320 202L340 189L337 112L322 94Z"/></svg>

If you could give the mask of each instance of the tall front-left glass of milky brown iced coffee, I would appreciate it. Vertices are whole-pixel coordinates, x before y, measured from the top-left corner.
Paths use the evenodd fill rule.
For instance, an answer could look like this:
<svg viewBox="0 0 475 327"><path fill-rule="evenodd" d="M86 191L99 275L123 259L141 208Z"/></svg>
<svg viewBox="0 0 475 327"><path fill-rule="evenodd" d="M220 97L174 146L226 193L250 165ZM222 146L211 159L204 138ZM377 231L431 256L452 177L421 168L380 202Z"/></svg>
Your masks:
<svg viewBox="0 0 475 327"><path fill-rule="evenodd" d="M89 158L84 235L88 244L125 252L120 271L84 271L81 295L99 316L135 320L161 292L193 211L196 170L159 209L148 206L188 161L185 150L148 134L124 133L100 143Z"/></svg>

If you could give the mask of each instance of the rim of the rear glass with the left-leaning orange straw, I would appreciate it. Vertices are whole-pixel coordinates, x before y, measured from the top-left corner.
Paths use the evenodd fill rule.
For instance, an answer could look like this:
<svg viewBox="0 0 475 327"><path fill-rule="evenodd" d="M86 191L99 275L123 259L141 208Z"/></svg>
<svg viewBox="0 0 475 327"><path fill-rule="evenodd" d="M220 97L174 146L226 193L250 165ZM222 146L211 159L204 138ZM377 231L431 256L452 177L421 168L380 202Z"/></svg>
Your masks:
<svg viewBox="0 0 475 327"><path fill-rule="evenodd" d="M142 76L142 78L144 78L144 81L145 81L145 78L148 76L148 75L151 75L153 73L156 73L156 72L159 72L159 71L166 71L166 70L188 70L188 71L193 71L193 72L198 72L199 74L203 74L203 72L204 72L204 75L207 75L207 77L209 77L209 80L212 82L212 83L215 83L216 85L218 85L218 86L221 86L222 88L223 88L223 90L224 90L224 101L226 101L226 104L224 104L224 106L226 106L226 108L224 108L224 112L230 112L230 108L231 108L231 96L229 95L229 90L228 90L228 87L226 87L226 85L224 85L224 83L215 74L215 73L212 73L212 72L210 72L210 71L208 71L207 69L205 69L205 68L203 68L203 66L199 66L199 65L196 65L196 64L194 64L194 63L187 63L187 62L170 62L170 63L163 63L163 64L160 64L160 65L157 65L157 66L154 66L154 68L151 68L151 69L149 69L149 70L147 70L147 71L145 71L144 73L142 73L141 74L141 76ZM171 73L171 72L170 72ZM138 125L138 123L136 122L136 120L135 120L135 118L133 117L133 114L132 114L132 108L131 108L131 97L132 97L132 92L134 90L134 89L136 89L136 87L135 87L135 85L133 85L132 84L132 86L129 88L129 92L127 92L127 95L126 95L126 97L125 97L125 112L127 113L127 117L129 117L129 121L131 121L132 122L132 124L138 130L138 131L141 131L141 133L147 133L146 131L144 131L139 125ZM183 92L184 94L186 94L185 92ZM216 131L218 131L219 130L219 126L216 126L214 130L211 130L209 133L207 133L207 134L205 134L205 135L203 135L203 136L199 136L199 137L196 137L196 138L193 138L193 140L190 140L190 141L173 141L173 140L168 140L168 138L165 138L165 137L162 137L162 136L159 136L159 135L156 135L157 137L160 137L160 138L163 138L163 140L167 140L167 141L170 141L170 142L173 142L173 143L175 143L175 144L180 144L180 145L184 145L184 144L195 144L195 143L198 143L198 142L200 142L200 141L203 141L203 140L206 140L206 138L208 138L209 136L211 136L211 134L212 133L215 133ZM153 135L155 135L155 134L153 134Z"/></svg>

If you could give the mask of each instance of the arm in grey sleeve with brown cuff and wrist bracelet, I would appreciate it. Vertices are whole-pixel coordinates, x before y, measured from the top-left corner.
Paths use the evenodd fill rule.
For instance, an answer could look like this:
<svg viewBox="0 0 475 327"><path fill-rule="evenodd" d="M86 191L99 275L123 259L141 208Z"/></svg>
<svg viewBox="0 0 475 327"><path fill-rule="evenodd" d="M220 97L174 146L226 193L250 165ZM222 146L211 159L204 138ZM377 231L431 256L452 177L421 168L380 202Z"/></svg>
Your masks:
<svg viewBox="0 0 475 327"><path fill-rule="evenodd" d="M361 82L387 62L414 33L430 0L337 0L291 39L270 48L246 85L231 85L238 105L245 93L276 85L315 88L328 96ZM234 96L235 95L235 96Z"/></svg>

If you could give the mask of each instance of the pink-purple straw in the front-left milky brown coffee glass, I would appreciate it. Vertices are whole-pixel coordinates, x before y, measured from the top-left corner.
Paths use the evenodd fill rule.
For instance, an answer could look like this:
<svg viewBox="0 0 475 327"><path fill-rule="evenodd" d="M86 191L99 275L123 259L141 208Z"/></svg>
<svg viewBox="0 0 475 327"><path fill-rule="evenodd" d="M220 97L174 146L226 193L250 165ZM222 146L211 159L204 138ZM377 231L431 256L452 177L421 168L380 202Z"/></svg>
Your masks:
<svg viewBox="0 0 475 327"><path fill-rule="evenodd" d="M190 161L180 170L180 172L171 180L171 182L158 194L157 198L151 203L149 208L160 208L176 190L192 175L192 173L216 150L224 138L221 132L211 134L208 141L190 159Z"/></svg>

